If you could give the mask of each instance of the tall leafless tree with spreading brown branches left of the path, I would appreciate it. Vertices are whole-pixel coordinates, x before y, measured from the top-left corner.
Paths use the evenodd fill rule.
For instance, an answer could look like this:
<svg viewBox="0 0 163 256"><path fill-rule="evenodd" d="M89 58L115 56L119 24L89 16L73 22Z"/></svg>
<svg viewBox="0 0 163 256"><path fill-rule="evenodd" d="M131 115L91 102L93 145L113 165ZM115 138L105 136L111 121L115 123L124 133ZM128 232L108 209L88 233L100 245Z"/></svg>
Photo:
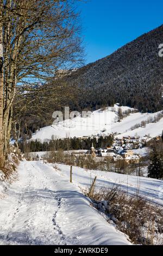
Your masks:
<svg viewBox="0 0 163 256"><path fill-rule="evenodd" d="M73 2L1 0L0 167L8 153L16 85L26 84L33 101L34 94L43 95L45 88L36 91L30 84L49 82L59 68L80 60L81 40Z"/></svg>

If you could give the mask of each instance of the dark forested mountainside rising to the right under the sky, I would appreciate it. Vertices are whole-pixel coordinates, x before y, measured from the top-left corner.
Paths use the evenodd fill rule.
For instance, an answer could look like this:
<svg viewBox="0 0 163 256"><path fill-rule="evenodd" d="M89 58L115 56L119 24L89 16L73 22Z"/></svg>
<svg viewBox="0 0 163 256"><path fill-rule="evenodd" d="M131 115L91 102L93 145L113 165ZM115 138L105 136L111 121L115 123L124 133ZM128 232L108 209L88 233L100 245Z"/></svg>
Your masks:
<svg viewBox="0 0 163 256"><path fill-rule="evenodd" d="M79 108L99 109L120 102L143 112L162 109L163 25L66 77L80 88ZM109 44L109 42L108 42Z"/></svg>

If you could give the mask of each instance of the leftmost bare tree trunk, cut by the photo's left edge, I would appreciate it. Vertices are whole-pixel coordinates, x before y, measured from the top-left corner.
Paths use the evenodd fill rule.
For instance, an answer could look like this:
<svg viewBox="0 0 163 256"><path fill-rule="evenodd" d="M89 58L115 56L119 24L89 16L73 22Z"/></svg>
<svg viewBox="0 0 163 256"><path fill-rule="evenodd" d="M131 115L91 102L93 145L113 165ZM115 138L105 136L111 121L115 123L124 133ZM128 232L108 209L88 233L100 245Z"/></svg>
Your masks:
<svg viewBox="0 0 163 256"><path fill-rule="evenodd" d="M0 9L1 11L1 9ZM0 168L4 166L4 136L3 136L3 100L4 100L4 77L3 77L3 27L2 11L0 13Z"/></svg>

